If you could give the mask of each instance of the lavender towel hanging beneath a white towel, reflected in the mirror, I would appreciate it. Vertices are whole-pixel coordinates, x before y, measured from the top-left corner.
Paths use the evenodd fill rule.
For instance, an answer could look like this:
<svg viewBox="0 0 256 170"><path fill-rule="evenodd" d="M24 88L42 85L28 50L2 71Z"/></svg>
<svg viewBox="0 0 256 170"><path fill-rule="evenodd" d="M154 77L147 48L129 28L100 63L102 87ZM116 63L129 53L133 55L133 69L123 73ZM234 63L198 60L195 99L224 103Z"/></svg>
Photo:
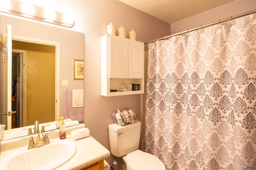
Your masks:
<svg viewBox="0 0 256 170"><path fill-rule="evenodd" d="M64 118L72 121L84 121L84 107L72 107L72 90L65 90Z"/></svg>

